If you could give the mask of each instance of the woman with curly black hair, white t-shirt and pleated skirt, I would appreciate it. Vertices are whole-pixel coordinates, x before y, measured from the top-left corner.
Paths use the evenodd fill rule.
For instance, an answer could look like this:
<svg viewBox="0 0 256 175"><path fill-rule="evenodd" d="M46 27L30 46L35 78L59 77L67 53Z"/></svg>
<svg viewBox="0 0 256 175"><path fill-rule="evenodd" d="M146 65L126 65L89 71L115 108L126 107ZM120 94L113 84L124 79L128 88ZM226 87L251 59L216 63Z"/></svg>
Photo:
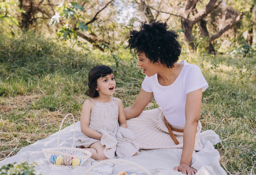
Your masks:
<svg viewBox="0 0 256 175"><path fill-rule="evenodd" d="M127 128L141 149L183 148L174 170L193 175L197 172L191 168L193 150L203 148L199 113L208 84L198 66L177 63L181 46L178 35L168 28L158 21L142 23L140 31L130 32L128 48L137 53L137 66L146 77L134 104L124 111L130 119ZM143 111L153 97L160 108Z"/></svg>

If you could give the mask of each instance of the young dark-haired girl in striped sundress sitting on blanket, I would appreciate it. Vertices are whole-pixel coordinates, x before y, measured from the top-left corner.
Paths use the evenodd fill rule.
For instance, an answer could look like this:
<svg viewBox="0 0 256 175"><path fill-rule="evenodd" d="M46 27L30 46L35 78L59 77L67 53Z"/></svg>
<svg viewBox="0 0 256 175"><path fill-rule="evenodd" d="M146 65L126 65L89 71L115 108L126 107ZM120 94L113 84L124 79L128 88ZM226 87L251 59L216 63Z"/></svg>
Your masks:
<svg viewBox="0 0 256 175"><path fill-rule="evenodd" d="M75 145L92 153L95 160L128 158L137 154L139 146L127 129L124 106L114 94L113 70L105 65L92 68L88 75L85 100L81 113L81 131Z"/></svg>

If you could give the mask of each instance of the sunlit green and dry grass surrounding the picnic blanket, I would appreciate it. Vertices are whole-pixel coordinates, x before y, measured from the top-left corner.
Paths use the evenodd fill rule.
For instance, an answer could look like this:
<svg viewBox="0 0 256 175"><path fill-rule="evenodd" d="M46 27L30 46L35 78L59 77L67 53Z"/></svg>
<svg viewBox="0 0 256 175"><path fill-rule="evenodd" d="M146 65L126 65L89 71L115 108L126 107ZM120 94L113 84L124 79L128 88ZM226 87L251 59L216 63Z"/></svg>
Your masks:
<svg viewBox="0 0 256 175"><path fill-rule="evenodd" d="M89 70L109 65L116 77L115 97L130 106L144 75L136 58L120 49L102 53L81 43L58 42L28 32L16 38L0 34L0 160L55 133L67 113L79 121ZM201 67L208 89L200 113L202 130L213 129L221 143L220 164L228 174L256 174L255 48L213 57L200 53L186 60ZM158 105L151 100L145 110ZM72 124L71 119L64 127Z"/></svg>

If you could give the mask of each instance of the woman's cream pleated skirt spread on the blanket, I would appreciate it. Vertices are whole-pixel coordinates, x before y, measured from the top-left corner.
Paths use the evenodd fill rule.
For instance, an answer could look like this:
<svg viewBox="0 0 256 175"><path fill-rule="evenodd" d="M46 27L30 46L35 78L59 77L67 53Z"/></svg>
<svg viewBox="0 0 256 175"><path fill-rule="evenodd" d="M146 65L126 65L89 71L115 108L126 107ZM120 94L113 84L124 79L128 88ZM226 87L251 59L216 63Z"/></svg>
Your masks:
<svg viewBox="0 0 256 175"><path fill-rule="evenodd" d="M195 151L200 151L204 147L199 139L201 128L199 121L195 136ZM175 145L165 126L161 107L145 110L140 116L127 120L127 129L134 134L134 141L139 144L140 149L183 148L183 132L173 131L179 141L179 144Z"/></svg>

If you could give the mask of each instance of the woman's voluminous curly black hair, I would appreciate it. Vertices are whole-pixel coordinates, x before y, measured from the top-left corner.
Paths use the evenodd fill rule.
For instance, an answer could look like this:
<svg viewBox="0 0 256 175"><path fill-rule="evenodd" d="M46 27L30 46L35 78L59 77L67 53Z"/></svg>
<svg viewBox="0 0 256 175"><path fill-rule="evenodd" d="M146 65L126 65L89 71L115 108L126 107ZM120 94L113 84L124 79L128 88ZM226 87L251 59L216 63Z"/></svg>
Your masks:
<svg viewBox="0 0 256 175"><path fill-rule="evenodd" d="M140 31L130 31L127 48L130 48L131 53L132 51L144 52L153 63L160 58L162 64L173 68L182 47L177 41L179 35L173 30L167 30L168 28L167 23L161 21L151 24L141 23Z"/></svg>

